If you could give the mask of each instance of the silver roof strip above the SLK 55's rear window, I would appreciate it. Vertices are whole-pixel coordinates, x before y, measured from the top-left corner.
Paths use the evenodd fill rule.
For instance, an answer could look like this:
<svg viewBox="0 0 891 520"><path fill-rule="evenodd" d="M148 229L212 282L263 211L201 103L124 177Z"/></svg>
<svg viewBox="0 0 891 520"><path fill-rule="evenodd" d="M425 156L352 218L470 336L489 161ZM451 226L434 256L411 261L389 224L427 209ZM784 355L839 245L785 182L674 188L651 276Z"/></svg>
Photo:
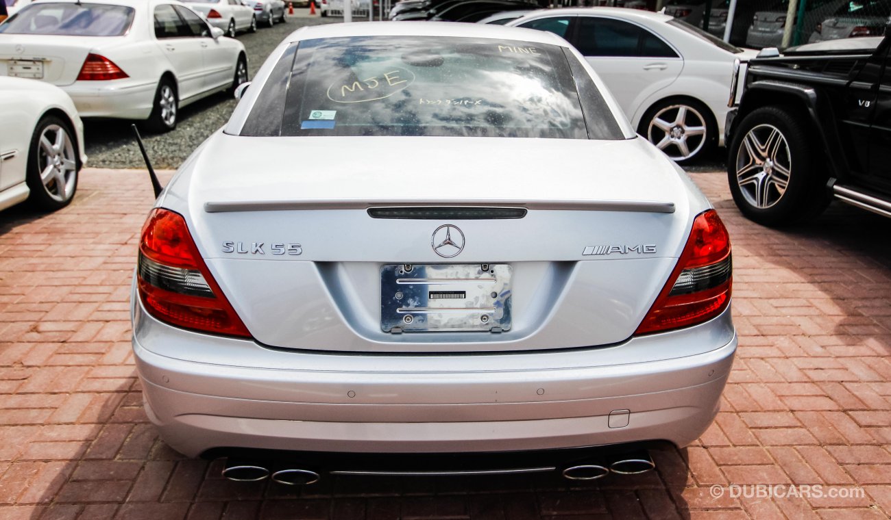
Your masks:
<svg viewBox="0 0 891 520"><path fill-rule="evenodd" d="M475 23L446 23L429 21L373 21L355 23L330 23L298 28L285 42L294 43L315 38L347 36L452 36L476 38L503 38L532 44L552 44L568 47L560 36L547 31L526 28L506 28L500 25Z"/></svg>

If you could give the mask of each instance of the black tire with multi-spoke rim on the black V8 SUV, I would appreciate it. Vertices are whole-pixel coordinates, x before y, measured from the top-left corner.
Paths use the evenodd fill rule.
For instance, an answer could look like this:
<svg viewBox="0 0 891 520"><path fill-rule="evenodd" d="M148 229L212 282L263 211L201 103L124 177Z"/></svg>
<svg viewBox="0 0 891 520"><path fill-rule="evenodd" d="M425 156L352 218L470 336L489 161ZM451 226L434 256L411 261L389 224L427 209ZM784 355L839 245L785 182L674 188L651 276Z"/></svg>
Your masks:
<svg viewBox="0 0 891 520"><path fill-rule="evenodd" d="M740 121L727 149L727 179L749 220L785 226L816 217L830 203L822 147L807 124L797 112L774 106Z"/></svg>

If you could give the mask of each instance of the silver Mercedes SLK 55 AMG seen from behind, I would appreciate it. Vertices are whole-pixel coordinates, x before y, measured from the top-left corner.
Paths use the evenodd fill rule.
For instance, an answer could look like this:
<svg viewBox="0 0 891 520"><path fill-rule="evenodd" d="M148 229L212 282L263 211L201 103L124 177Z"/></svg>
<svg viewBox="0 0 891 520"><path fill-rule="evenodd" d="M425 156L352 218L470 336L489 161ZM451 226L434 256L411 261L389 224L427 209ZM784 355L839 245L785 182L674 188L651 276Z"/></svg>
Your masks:
<svg viewBox="0 0 891 520"><path fill-rule="evenodd" d="M333 24L159 196L133 348L164 440L233 479L596 478L714 420L731 281L705 196L560 37Z"/></svg>

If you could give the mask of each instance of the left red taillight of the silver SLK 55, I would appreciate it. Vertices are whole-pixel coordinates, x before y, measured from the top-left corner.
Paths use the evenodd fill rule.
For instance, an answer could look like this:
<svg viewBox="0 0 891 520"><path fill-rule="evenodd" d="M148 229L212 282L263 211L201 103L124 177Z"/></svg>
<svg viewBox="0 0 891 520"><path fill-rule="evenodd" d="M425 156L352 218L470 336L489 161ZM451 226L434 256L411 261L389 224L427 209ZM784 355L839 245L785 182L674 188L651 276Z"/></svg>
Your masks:
<svg viewBox="0 0 891 520"><path fill-rule="evenodd" d="M160 321L194 331L250 337L210 276L179 213L151 211L139 241L136 276L143 306Z"/></svg>

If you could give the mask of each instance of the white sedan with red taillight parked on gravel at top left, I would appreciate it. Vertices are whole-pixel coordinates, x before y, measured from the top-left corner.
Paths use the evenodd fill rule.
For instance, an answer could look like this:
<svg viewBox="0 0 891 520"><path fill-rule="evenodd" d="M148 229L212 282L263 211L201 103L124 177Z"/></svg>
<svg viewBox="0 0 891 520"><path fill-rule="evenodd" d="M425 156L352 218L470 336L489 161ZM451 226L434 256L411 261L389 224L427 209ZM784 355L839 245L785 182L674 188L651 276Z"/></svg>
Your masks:
<svg viewBox="0 0 891 520"><path fill-rule="evenodd" d="M244 46L175 0L36 2L0 25L0 76L61 87L81 117L176 128L179 108L248 80Z"/></svg>

